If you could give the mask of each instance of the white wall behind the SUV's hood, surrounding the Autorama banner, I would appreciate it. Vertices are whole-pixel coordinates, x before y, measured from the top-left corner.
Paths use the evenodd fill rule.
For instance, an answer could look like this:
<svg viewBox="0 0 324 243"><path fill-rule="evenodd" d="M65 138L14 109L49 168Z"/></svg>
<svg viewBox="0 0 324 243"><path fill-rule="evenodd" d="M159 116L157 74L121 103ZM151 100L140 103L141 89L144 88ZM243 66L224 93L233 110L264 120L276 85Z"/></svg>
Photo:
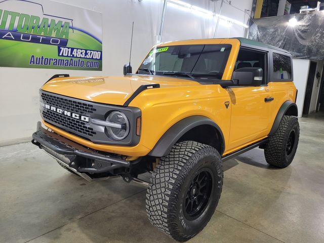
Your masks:
<svg viewBox="0 0 324 243"><path fill-rule="evenodd" d="M214 10L209 0L182 0ZM155 44L163 2L161 0L56 0L102 13L103 70L71 71L0 67L0 146L29 140L40 120L38 89L56 73L73 76L120 75L129 58L131 22L134 21L132 66L137 68ZM251 10L252 0L232 0L232 5ZM220 2L216 3L219 12ZM244 21L244 13L224 4L222 15ZM248 19L246 18L246 21ZM174 7L168 7L162 41L188 38L212 38L215 19L206 19ZM243 36L244 28L233 24L230 37ZM217 37L227 37L228 28L219 25ZM1 57L0 57L1 58Z"/></svg>

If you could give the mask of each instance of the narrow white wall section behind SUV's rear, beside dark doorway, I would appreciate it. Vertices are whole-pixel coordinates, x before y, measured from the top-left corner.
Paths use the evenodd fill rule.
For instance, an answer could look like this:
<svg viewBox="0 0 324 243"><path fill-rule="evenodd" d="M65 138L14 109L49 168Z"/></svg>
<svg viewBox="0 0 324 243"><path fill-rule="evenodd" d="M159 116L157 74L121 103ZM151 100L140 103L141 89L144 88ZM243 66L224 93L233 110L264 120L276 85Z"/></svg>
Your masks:
<svg viewBox="0 0 324 243"><path fill-rule="evenodd" d="M294 83L298 90L296 104L299 117L301 117L303 113L309 64L310 60L308 59L293 59Z"/></svg>

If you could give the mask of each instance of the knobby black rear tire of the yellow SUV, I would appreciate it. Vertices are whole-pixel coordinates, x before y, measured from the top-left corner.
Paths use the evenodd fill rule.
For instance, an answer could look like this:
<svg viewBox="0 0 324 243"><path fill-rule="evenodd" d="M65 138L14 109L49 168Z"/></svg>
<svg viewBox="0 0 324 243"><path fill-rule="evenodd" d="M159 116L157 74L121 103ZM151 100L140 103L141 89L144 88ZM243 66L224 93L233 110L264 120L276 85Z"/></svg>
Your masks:
<svg viewBox="0 0 324 243"><path fill-rule="evenodd" d="M294 133L294 144L291 146L290 153L287 154L288 141L291 133ZM284 115L279 128L270 136L265 144L264 155L268 164L286 168L289 166L295 156L299 141L299 123L295 116Z"/></svg>

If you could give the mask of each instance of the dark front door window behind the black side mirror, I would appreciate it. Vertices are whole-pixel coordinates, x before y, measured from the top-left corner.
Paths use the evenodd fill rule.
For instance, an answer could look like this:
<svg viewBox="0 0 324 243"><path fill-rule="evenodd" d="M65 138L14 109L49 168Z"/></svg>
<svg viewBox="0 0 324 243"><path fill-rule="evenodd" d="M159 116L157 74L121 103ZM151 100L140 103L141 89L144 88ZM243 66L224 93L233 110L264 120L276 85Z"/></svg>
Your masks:
<svg viewBox="0 0 324 243"><path fill-rule="evenodd" d="M260 67L263 71L262 84L267 84L267 53L241 48L235 63L235 70L242 67Z"/></svg>

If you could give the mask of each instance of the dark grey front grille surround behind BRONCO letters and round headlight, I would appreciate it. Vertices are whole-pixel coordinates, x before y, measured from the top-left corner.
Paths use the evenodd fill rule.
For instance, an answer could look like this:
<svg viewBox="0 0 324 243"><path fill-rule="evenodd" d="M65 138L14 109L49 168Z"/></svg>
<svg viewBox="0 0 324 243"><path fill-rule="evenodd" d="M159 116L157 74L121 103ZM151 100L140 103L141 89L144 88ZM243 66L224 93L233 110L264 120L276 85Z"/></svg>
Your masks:
<svg viewBox="0 0 324 243"><path fill-rule="evenodd" d="M101 104L44 90L40 90L39 94L41 98L41 116L46 123L94 143L136 145L139 142L136 130L132 130L132 127L135 127L136 118L141 116L139 108ZM61 111L58 112L58 109L61 109ZM107 115L114 110L124 112L131 123L130 129L132 132L123 141L112 140L107 136L104 126L91 122L91 119L106 120ZM70 114L65 112L70 112ZM88 117L89 121L85 121L82 116Z"/></svg>

